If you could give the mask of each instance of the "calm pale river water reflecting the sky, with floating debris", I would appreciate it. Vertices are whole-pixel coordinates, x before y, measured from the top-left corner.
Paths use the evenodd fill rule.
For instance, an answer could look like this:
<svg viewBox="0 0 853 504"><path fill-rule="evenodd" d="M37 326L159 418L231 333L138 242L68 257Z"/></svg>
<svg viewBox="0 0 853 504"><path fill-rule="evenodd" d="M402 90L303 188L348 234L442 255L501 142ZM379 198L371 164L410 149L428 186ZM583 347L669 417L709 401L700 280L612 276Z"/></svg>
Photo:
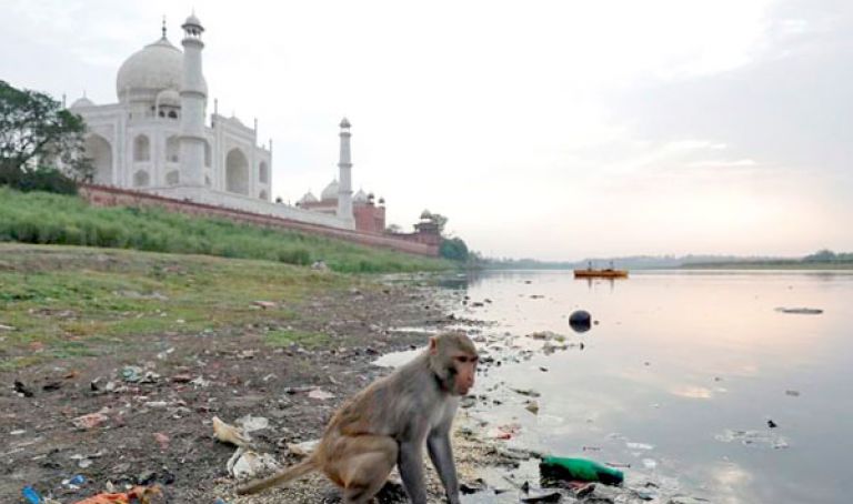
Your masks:
<svg viewBox="0 0 853 504"><path fill-rule="evenodd" d="M483 334L554 331L584 342L492 367L478 384L542 394L538 415L510 391L474 411L491 424L520 423L511 443L631 464L629 482L655 481L662 494L853 502L853 275L653 272L590 283L571 272L501 272L454 286L493 301L458 312L494 322ZM572 332L576 309L600 323Z"/></svg>

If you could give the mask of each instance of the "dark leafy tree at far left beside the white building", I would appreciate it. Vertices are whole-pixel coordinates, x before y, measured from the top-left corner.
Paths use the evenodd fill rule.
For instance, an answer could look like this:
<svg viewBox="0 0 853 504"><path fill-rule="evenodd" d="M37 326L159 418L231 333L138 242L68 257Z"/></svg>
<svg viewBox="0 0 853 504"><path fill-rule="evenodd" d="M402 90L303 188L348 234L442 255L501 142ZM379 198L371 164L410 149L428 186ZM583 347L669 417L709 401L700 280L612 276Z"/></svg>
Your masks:
<svg viewBox="0 0 853 504"><path fill-rule="evenodd" d="M74 181L91 180L92 163L83 155L84 132L83 119L48 94L19 90L0 80L0 172L3 178L21 178L43 168L62 168Z"/></svg>

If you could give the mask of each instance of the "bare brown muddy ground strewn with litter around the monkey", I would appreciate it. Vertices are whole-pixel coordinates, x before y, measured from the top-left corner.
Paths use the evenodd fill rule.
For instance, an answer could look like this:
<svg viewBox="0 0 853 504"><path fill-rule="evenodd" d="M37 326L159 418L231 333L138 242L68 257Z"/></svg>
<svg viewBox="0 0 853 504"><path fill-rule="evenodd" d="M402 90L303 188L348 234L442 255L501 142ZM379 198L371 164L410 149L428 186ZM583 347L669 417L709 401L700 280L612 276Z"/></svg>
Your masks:
<svg viewBox="0 0 853 504"><path fill-rule="evenodd" d="M451 321L434 291L412 285L314 294L299 310L311 316L294 317L293 329L327 334L328 342L270 347L267 327L247 324L140 336L145 344L137 341L132 355L112 349L2 372L0 502L22 502L22 487L32 485L43 496L72 503L102 492L108 482L122 490L157 483L173 503L334 502L335 492L319 477L237 498L225 470L234 448L213 440L211 419L269 419L268 429L252 434L255 446L292 462L288 443L318 437L345 397L388 372L371 365L379 354L425 342L424 334L393 327ZM310 387L333 397L312 399ZM74 425L99 412L97 425ZM484 462L466 443L459 440L459 458ZM470 465L462 473L473 477ZM86 478L79 488L62 483L76 475ZM434 484L433 491L438 497Z"/></svg>

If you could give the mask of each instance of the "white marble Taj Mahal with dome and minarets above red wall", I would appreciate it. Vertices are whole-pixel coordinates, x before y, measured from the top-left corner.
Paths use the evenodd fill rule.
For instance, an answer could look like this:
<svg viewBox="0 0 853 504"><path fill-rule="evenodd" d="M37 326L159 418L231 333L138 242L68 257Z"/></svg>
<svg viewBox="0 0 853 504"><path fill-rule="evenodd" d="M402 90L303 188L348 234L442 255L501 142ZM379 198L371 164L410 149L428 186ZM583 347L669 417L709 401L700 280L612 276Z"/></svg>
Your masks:
<svg viewBox="0 0 853 504"><path fill-rule="evenodd" d="M384 201L353 196L350 122L340 123L337 178L322 200L307 194L295 205L272 202L272 140L259 144L258 122L208 115L202 71L204 28L193 13L181 26L183 50L167 38L131 54L116 78L117 103L83 97L70 110L87 123L86 155L93 182L339 229L382 232ZM208 120L209 119L209 120Z"/></svg>

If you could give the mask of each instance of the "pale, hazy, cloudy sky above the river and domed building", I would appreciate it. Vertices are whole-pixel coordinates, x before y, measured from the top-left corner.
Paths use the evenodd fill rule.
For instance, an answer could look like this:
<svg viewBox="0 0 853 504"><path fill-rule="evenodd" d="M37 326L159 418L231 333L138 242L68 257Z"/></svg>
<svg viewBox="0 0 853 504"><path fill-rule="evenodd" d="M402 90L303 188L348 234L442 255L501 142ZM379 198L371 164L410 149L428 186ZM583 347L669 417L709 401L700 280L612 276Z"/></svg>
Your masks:
<svg viewBox="0 0 853 504"><path fill-rule="evenodd" d="M273 195L353 184L491 256L853 251L853 2L2 0L0 79L116 98L192 8Z"/></svg>

